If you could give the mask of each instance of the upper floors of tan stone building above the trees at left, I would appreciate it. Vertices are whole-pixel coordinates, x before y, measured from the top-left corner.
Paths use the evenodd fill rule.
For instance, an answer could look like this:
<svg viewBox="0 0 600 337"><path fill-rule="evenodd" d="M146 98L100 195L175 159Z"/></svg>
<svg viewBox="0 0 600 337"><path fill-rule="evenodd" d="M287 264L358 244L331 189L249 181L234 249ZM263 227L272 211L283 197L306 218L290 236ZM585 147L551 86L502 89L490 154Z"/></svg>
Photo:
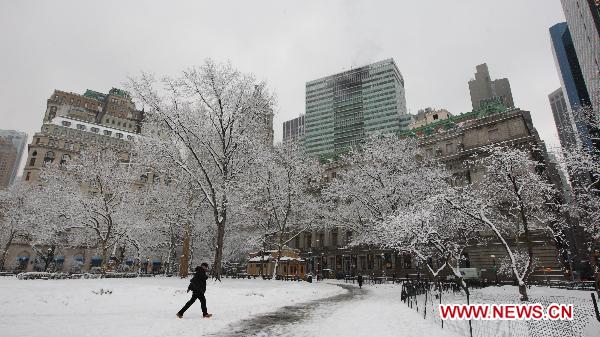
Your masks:
<svg viewBox="0 0 600 337"><path fill-rule="evenodd" d="M64 163L88 144L108 146L127 157L143 117L121 89L108 94L87 90L83 95L55 90L46 103L42 128L29 144L23 179L38 180L44 165Z"/></svg>

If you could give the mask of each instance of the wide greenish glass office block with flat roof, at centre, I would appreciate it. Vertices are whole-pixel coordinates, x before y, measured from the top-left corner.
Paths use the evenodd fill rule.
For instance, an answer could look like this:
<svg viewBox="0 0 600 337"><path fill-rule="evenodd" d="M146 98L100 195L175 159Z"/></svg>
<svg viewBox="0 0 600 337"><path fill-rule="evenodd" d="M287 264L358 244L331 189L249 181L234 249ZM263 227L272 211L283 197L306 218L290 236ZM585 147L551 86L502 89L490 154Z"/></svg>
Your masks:
<svg viewBox="0 0 600 337"><path fill-rule="evenodd" d="M409 123L404 79L393 59L306 83L304 147L311 155L339 153Z"/></svg>

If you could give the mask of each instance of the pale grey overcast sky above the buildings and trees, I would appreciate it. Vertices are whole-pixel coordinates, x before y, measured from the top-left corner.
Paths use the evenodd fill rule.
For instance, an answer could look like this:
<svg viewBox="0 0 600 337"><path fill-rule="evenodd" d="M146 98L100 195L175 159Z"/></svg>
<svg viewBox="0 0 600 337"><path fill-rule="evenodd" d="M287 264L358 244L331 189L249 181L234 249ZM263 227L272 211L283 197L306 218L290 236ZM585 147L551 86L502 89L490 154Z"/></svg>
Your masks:
<svg viewBox="0 0 600 337"><path fill-rule="evenodd" d="M211 57L268 82L278 140L304 111L305 82L391 57L413 113L470 111L467 82L487 62L556 145L548 28L561 21L559 0L0 0L0 129L31 137L54 89L107 92L141 70L176 75Z"/></svg>

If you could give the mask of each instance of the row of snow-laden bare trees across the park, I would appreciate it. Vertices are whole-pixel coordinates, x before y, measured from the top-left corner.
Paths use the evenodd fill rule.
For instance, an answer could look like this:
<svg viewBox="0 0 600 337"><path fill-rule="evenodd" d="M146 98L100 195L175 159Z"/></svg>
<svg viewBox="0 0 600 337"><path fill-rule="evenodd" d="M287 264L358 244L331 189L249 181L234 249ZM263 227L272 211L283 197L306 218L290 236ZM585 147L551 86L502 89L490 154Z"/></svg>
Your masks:
<svg viewBox="0 0 600 337"><path fill-rule="evenodd" d="M589 148L564 157L571 176L588 177L564 202L531 144L481 149L455 172L415 139L376 135L323 166L297 144L269 144L273 95L230 65L208 61L160 81L142 74L130 88L146 123L129 154L87 147L45 168L41 185L0 193L2 262L23 237L32 246L95 247L104 261L118 248L160 252L173 270L188 232L192 255L211 254L218 278L223 261L250 249L281 252L304 231L341 227L353 245L413 254L434 277L449 269L465 290L464 250L495 240L526 300L533 235L562 240L570 215L598 240L598 157ZM339 174L326 183L331 165Z"/></svg>

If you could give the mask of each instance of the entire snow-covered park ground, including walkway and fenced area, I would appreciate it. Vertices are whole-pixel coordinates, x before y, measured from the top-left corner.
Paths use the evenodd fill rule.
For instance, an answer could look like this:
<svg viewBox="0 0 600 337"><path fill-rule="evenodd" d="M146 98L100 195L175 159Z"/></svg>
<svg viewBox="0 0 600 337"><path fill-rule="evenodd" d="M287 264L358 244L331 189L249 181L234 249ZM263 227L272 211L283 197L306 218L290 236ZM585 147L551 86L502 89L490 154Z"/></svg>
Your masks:
<svg viewBox="0 0 600 337"><path fill-rule="evenodd" d="M184 319L188 280L177 278L17 280L0 278L1 337L70 336L465 336L466 321L446 321L416 312L400 301L398 285L355 285L263 280L209 281L211 319L201 318L200 303ZM534 301L575 304L575 315L589 315L589 292L532 288ZM514 287L473 290L472 303L519 303ZM448 294L445 303L463 303ZM591 302L591 301L590 301ZM580 308L578 309L578 306ZM554 336L548 322L528 325L474 324L476 336ZM483 325L485 324L485 325ZM530 325L533 324L533 325ZM598 336L600 324L586 316L585 329L573 336ZM564 334L563 334L564 335Z"/></svg>

